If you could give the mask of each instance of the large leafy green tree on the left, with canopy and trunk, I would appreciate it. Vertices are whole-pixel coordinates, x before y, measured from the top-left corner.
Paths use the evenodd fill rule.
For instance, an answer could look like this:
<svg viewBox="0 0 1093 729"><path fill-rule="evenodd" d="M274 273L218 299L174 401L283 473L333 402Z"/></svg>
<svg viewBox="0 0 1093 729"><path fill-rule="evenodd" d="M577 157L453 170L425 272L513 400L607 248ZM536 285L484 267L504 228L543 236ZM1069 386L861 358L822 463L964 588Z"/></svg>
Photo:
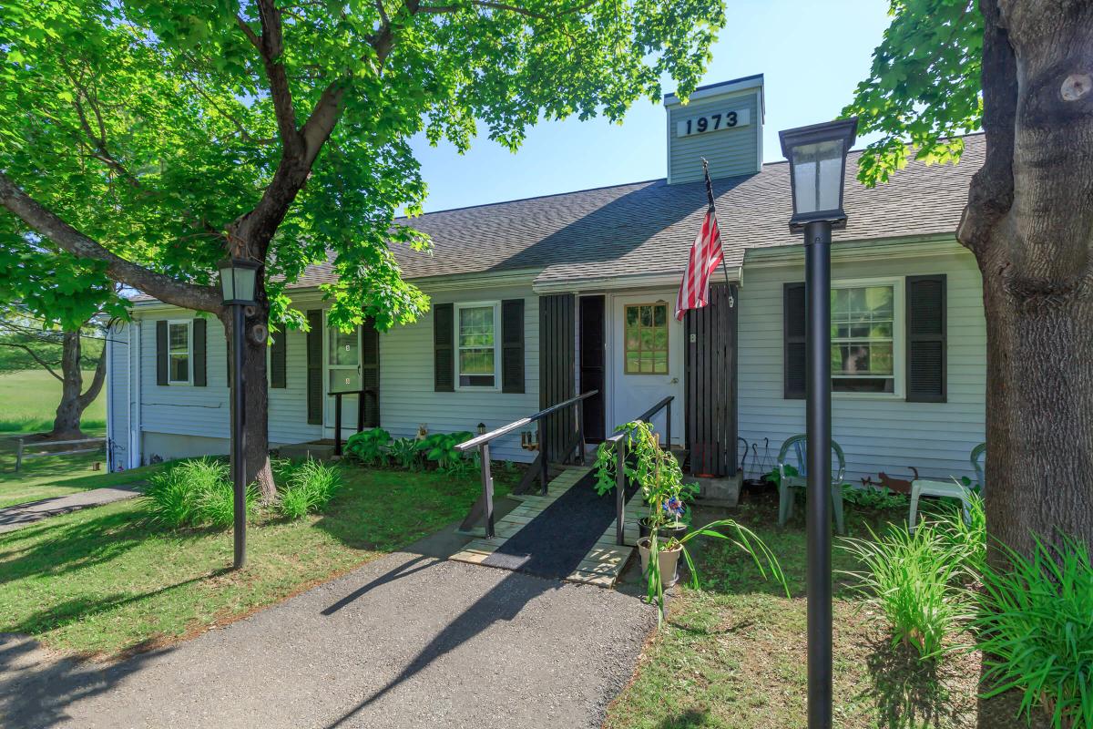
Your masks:
<svg viewBox="0 0 1093 729"><path fill-rule="evenodd" d="M247 461L267 490L272 318L330 256L342 327L412 321L390 245L425 196L409 140L516 149L539 119L622 117L692 90L721 0L16 0L0 15L0 203L56 248L226 316L232 252L262 264L247 317ZM0 254L2 255L2 254ZM20 251L19 255L28 255ZM2 264L0 260L0 264Z"/></svg>

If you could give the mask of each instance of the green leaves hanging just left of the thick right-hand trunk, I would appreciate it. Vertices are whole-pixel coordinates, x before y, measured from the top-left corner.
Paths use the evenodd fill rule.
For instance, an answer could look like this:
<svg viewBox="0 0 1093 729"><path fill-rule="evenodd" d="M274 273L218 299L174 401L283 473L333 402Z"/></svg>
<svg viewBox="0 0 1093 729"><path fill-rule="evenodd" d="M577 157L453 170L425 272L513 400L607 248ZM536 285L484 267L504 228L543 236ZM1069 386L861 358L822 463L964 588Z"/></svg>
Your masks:
<svg viewBox="0 0 1093 729"><path fill-rule="evenodd" d="M963 141L979 128L983 16L972 0L891 0L892 24L873 51L869 78L844 116L859 133L881 132L862 153L858 179L886 183L907 164L960 161ZM908 149L909 145L909 149Z"/></svg>

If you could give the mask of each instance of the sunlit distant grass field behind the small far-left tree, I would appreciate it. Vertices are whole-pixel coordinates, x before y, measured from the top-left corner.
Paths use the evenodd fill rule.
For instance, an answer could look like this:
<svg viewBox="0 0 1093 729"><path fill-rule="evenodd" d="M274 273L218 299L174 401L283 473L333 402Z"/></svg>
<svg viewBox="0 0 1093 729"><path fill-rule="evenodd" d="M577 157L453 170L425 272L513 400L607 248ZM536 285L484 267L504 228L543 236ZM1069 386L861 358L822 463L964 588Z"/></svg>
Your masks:
<svg viewBox="0 0 1093 729"><path fill-rule="evenodd" d="M84 386L93 373L85 372ZM106 387L104 385L103 391ZM26 369L0 375L0 433L37 433L54 425L54 412L61 399L61 384L45 369ZM106 397L102 393L83 413L84 433L106 428Z"/></svg>

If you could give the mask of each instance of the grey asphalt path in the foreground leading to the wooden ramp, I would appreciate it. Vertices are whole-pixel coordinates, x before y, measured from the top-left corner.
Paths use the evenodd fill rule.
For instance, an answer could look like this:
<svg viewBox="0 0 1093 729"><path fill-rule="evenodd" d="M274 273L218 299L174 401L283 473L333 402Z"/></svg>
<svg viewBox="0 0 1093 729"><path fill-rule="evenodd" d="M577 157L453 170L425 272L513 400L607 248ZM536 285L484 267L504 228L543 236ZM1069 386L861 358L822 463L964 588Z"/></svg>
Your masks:
<svg viewBox="0 0 1093 729"><path fill-rule="evenodd" d="M0 717L25 729L592 728L655 622L623 592L400 552L109 666L0 636Z"/></svg>

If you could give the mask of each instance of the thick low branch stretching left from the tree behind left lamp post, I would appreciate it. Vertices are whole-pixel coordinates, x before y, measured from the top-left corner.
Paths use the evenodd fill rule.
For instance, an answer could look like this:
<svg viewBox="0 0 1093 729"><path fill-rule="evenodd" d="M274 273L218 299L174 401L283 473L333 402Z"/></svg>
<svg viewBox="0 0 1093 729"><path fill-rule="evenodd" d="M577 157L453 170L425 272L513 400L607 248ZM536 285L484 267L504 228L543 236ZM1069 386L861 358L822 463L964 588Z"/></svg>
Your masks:
<svg viewBox="0 0 1093 729"><path fill-rule="evenodd" d="M106 263L106 273L115 281L129 284L166 304L216 315L223 309L221 294L214 286L177 281L125 260L46 210L3 173L0 173L0 204L63 250L78 258Z"/></svg>

